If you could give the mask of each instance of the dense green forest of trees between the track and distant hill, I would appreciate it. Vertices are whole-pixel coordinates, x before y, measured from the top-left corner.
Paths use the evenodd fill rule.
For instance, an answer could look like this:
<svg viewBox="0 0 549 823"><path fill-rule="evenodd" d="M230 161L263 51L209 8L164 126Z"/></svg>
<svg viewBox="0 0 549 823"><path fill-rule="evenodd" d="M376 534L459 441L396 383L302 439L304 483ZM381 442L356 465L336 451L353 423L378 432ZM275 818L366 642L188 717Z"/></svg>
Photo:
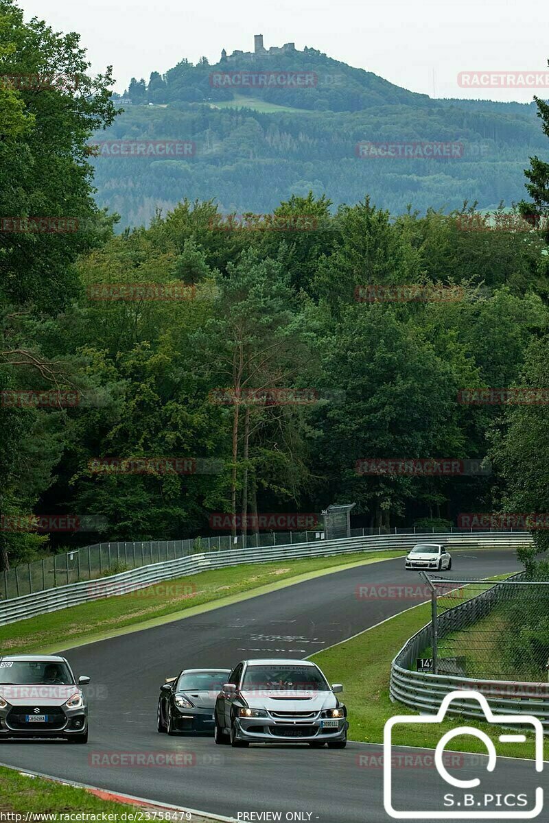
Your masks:
<svg viewBox="0 0 549 823"><path fill-rule="evenodd" d="M280 198L271 220L230 227L190 173L176 191L166 172L162 197L179 204L115 235L89 148L121 121L110 71L89 77L77 36L25 23L12 0L0 0L0 25L0 509L4 522L68 513L107 524L73 536L2 528L0 569L71 540L206 534L215 512L355 502L365 525L392 527L549 511L547 403L459 400L465 388L549 386L546 230L518 216L505 229L472 221L474 204L391 214L373 185L349 206L307 188ZM37 72L80 81L36 90L6 79ZM535 119L520 128L535 126L547 151L538 106L545 136ZM527 165L524 151L522 176ZM523 214L549 202L548 171L533 158ZM212 190L221 184L212 177ZM13 229L36 216L77 230ZM357 299L368 285L454 296ZM314 402L268 401L290 390ZM21 392L81 402L16 402ZM363 475L365 458L478 458L491 472ZM130 472L109 460L150 463Z"/></svg>

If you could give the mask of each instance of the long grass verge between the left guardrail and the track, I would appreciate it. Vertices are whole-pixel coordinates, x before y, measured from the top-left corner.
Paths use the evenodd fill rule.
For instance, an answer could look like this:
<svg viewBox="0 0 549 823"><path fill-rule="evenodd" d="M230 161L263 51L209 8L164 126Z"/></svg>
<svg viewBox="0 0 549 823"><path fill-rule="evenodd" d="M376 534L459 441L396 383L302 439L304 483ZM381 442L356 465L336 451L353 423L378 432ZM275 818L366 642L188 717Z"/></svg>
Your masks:
<svg viewBox="0 0 549 823"><path fill-rule="evenodd" d="M231 566L166 580L131 594L0 627L0 654L53 653L98 639L151 628L352 565L403 556L405 551L370 551L303 560Z"/></svg>

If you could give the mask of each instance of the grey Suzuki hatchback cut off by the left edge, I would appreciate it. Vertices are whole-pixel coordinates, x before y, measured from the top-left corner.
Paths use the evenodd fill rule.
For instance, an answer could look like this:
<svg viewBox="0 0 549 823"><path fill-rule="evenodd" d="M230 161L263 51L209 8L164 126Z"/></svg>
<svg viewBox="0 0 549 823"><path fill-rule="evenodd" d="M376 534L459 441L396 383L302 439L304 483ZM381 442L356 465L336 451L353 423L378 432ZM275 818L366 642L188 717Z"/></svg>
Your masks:
<svg viewBox="0 0 549 823"><path fill-rule="evenodd" d="M88 741L88 709L65 658L0 658L0 741L9 737L63 737Z"/></svg>

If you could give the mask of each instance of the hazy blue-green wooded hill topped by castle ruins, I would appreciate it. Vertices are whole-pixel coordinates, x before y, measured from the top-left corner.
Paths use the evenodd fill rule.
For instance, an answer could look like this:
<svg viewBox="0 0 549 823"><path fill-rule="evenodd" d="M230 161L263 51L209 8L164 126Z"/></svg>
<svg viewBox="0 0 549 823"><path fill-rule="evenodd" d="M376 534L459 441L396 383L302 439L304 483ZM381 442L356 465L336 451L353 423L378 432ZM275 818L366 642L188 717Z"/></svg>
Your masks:
<svg viewBox="0 0 549 823"><path fill-rule="evenodd" d="M213 64L183 58L148 82L133 79L131 105L123 100L98 140L184 140L196 151L95 161L98 200L119 212L122 227L147 224L184 198L258 214L309 192L334 207L368 194L394 214L408 204L448 212L464 201L494 209L523 198L528 157L547 151L533 105L433 100L318 49L250 40L249 52L223 49ZM362 142L444 142L459 151L454 159L372 160L357 151Z"/></svg>

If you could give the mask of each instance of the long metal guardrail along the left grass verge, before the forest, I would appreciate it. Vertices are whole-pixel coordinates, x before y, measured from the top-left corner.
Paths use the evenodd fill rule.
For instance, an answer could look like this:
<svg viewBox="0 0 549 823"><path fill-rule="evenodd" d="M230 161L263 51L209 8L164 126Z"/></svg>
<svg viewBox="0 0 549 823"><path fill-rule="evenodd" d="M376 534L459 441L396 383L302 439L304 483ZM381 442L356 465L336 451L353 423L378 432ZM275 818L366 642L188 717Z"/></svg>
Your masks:
<svg viewBox="0 0 549 823"><path fill-rule="evenodd" d="M359 551L381 551L383 549L405 550L417 542L444 542L454 547L460 546L519 546L529 542L527 532L479 533L479 534L407 534L390 536L349 537L345 540L315 541L286 546L263 546L263 548L235 548L230 551L203 551L192 556L167 560L162 563L142 566L138 569L113 574L110 577L85 580L67 586L50 588L0 602L0 625L7 625L27 617L58 611L80 603L128 594L146 588L163 580L184 577L208 569L223 569L242 563L267 563L269 560L291 560L300 557L328 557Z"/></svg>

